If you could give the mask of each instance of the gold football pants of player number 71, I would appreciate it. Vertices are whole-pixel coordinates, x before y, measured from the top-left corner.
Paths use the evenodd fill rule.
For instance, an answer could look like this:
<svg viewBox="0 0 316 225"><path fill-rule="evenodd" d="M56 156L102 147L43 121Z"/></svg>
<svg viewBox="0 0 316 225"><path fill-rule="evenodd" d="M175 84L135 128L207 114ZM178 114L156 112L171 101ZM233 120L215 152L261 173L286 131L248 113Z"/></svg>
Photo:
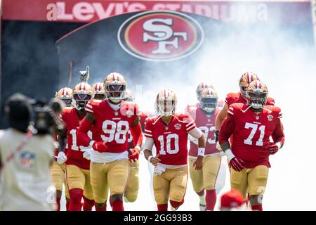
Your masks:
<svg viewBox="0 0 316 225"><path fill-rule="evenodd" d="M235 188L246 199L247 191L249 195L263 195L268 181L268 167L259 165L252 169L242 169L237 172L230 168L230 186Z"/></svg>

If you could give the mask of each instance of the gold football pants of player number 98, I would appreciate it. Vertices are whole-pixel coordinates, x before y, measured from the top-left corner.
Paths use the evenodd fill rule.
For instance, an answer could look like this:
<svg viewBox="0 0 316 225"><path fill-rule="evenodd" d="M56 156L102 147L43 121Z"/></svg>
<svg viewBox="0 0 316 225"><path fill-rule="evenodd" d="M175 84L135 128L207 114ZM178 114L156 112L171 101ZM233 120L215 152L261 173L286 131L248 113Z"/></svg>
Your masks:
<svg viewBox="0 0 316 225"><path fill-rule="evenodd" d="M91 185L96 203L105 203L110 194L123 194L129 181L129 160L90 163Z"/></svg>

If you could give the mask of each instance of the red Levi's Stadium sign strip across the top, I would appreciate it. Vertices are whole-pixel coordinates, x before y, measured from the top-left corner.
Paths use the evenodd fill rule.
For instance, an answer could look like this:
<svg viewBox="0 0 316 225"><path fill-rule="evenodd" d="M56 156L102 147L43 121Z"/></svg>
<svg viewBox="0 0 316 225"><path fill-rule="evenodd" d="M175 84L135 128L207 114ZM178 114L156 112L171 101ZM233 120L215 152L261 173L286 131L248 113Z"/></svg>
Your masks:
<svg viewBox="0 0 316 225"><path fill-rule="evenodd" d="M285 9L286 8L286 9ZM285 9L285 10L284 10ZM4 0L3 20L91 23L114 15L168 10L204 15L225 22L307 23L310 1L105 1Z"/></svg>

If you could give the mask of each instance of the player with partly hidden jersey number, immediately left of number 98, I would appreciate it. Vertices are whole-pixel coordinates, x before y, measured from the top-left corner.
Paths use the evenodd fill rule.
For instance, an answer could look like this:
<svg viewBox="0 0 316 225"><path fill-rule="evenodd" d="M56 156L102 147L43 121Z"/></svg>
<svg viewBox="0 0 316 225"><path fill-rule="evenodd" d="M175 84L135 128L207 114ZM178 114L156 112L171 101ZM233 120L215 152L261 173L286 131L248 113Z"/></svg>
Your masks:
<svg viewBox="0 0 316 225"><path fill-rule="evenodd" d="M70 193L70 211L81 210L81 199L84 198L84 211L91 211L94 205L90 181L90 150L78 143L77 129L86 115L86 103L92 98L91 86L85 82L74 86L72 91L75 107L62 110L61 119L67 129L67 156L64 151L58 154L58 162L66 164L66 180ZM63 139L59 136L59 139ZM60 144L62 140L58 141ZM87 146L87 145L86 145ZM61 144L60 149L64 148Z"/></svg>

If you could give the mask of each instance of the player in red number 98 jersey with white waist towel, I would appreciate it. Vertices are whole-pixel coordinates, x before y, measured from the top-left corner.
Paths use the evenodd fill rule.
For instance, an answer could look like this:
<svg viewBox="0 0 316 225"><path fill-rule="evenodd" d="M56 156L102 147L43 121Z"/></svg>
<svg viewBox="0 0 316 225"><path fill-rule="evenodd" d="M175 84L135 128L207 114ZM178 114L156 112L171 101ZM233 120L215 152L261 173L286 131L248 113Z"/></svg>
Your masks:
<svg viewBox="0 0 316 225"><path fill-rule="evenodd" d="M105 100L92 100L81 122L78 136L82 144L91 146L91 185L96 210L106 210L107 191L113 211L124 210L123 194L129 181L129 160L136 161L143 140L138 105L124 101L126 81L112 72L104 81ZM92 130L92 139L87 135ZM128 151L127 133L131 129L134 148Z"/></svg>

